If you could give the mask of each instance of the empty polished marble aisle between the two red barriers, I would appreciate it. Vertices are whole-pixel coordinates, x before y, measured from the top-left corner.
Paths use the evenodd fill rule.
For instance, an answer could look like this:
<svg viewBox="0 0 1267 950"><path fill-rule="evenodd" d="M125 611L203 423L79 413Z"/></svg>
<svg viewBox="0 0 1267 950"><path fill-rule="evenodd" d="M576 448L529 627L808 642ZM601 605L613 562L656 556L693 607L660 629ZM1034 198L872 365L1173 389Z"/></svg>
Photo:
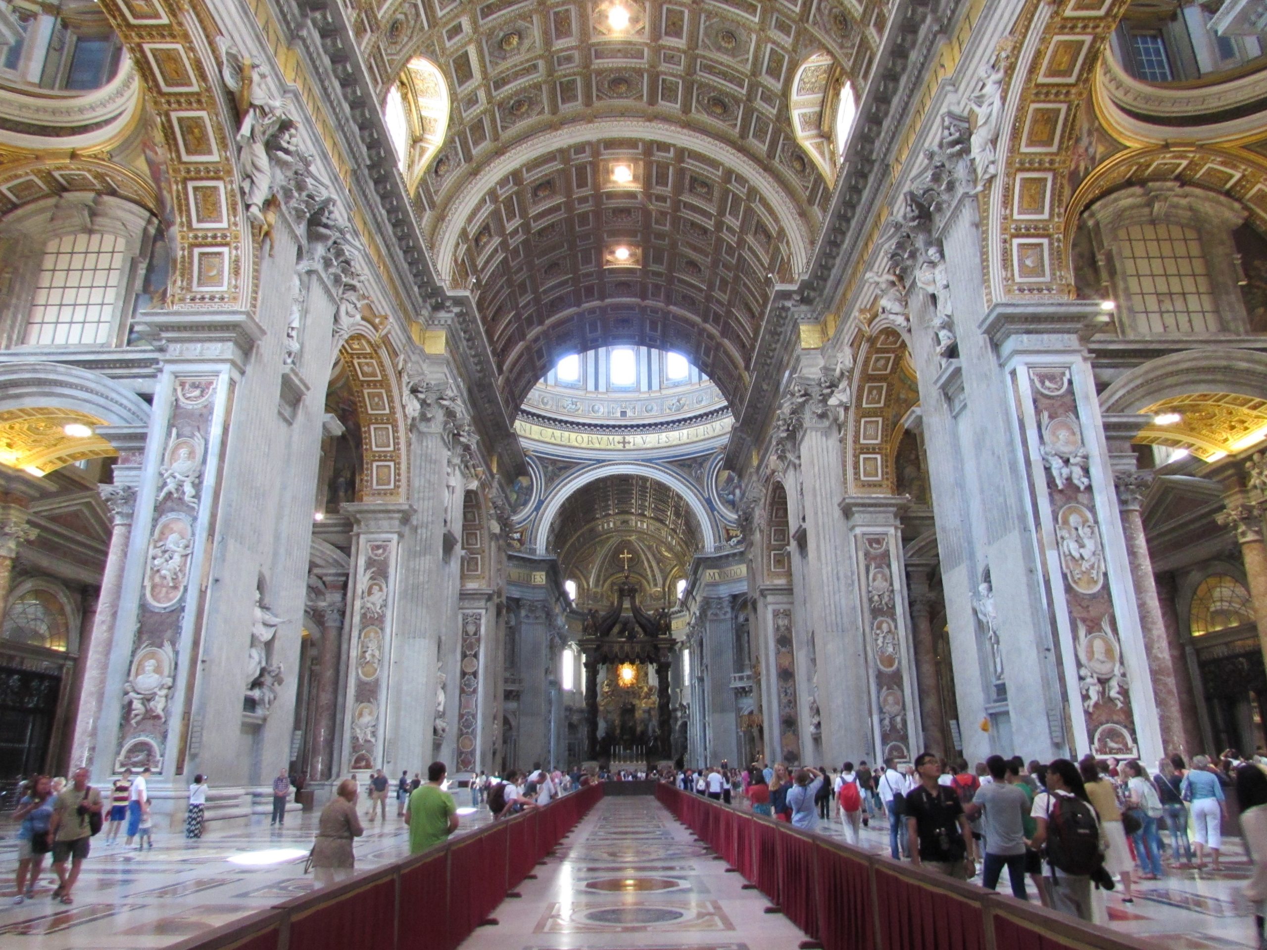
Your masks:
<svg viewBox="0 0 1267 950"><path fill-rule="evenodd" d="M805 935L653 798L607 798L461 950L792 950ZM718 941L725 936L737 940Z"/></svg>

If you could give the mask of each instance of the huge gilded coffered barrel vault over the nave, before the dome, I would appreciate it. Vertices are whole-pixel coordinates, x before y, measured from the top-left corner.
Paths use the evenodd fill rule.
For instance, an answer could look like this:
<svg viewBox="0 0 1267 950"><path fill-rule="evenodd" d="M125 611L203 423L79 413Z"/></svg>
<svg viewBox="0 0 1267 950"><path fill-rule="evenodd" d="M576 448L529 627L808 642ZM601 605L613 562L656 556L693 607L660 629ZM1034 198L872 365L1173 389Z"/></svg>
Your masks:
<svg viewBox="0 0 1267 950"><path fill-rule="evenodd" d="M830 0L355 11L384 95L418 56L450 84L414 208L441 276L475 296L511 404L557 357L613 341L684 350L739 394L770 290L806 266L830 199L793 82L860 91L886 23L881 4Z"/></svg>

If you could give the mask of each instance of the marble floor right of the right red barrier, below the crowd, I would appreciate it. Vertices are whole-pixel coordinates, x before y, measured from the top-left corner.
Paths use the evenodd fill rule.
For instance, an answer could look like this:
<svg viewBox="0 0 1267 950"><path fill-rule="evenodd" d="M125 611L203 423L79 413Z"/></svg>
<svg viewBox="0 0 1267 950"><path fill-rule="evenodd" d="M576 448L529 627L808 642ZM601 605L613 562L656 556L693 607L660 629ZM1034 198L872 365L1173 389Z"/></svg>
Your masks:
<svg viewBox="0 0 1267 950"><path fill-rule="evenodd" d="M820 823L829 837L844 840L839 821ZM1169 836L1163 836L1167 849ZM1253 911L1240 897L1249 877L1249 859L1239 839L1223 839L1224 869L1172 870L1162 880L1135 880L1135 902L1124 903L1121 888L1112 893L1097 890L1097 921L1131 936L1164 935L1167 950L1207 950L1213 947L1254 947ZM862 830L862 846L878 855L888 854L888 825L873 820ZM1169 852L1167 850L1167 859ZM981 883L978 874L977 883ZM1007 874L1000 889L1007 893ZM1033 898L1033 894L1031 894Z"/></svg>

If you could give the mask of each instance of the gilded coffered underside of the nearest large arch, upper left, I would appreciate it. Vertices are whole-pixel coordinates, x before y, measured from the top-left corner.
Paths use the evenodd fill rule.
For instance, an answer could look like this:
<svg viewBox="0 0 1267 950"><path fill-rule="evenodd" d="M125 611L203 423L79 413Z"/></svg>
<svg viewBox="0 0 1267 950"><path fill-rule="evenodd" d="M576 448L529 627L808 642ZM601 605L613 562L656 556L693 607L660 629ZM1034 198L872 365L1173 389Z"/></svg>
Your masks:
<svg viewBox="0 0 1267 950"><path fill-rule="evenodd" d="M236 123L226 111L212 53L218 30L201 4L101 0L101 9L141 72L166 144L179 248L167 303L242 307L250 296L253 244L237 189Z"/></svg>

